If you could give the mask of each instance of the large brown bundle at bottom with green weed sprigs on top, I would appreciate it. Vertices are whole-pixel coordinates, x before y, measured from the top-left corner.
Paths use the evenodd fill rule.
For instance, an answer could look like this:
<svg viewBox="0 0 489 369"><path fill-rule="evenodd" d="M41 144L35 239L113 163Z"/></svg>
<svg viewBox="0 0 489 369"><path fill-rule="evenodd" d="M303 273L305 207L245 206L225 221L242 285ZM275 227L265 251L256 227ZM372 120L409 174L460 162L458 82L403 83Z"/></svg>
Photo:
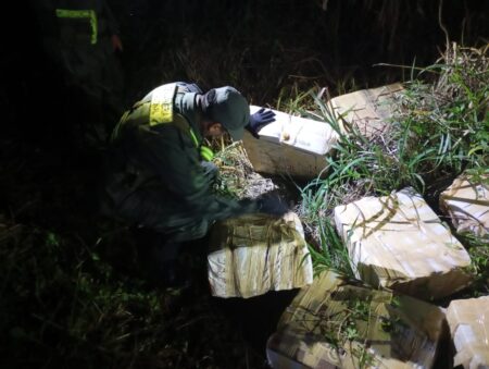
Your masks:
<svg viewBox="0 0 489 369"><path fill-rule="evenodd" d="M326 271L304 287L268 339L273 368L431 368L440 308Z"/></svg>

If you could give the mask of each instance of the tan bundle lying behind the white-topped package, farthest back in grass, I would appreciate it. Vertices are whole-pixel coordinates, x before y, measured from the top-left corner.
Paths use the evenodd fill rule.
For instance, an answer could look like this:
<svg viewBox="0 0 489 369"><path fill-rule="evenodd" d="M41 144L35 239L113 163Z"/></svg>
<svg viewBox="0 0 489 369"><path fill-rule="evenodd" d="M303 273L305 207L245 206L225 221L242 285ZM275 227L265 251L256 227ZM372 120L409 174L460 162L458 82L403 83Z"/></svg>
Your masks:
<svg viewBox="0 0 489 369"><path fill-rule="evenodd" d="M337 116L355 125L365 137L384 133L393 111L393 95L403 90L401 84L362 89L329 100Z"/></svg>

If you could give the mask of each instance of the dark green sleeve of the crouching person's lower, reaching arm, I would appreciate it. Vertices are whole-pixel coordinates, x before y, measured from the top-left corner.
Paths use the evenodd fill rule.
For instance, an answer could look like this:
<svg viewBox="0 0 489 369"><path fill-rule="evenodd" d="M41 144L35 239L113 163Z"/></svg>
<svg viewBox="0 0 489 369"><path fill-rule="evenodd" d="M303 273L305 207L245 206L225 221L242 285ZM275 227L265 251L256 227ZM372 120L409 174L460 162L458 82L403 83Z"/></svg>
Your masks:
<svg viewBox="0 0 489 369"><path fill-rule="evenodd" d="M254 212L253 201L236 201L217 197L204 176L195 144L173 125L145 128L140 160L165 184L172 194L181 198L181 206L209 220L221 220Z"/></svg>

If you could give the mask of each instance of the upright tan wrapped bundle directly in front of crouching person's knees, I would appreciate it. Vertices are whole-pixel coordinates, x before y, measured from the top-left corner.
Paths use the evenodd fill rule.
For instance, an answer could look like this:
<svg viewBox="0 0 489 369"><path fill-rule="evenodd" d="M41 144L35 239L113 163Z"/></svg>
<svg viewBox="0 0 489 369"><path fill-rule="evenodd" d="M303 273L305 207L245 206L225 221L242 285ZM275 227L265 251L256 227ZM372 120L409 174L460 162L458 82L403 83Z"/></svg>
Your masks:
<svg viewBox="0 0 489 369"><path fill-rule="evenodd" d="M311 257L293 212L280 219L255 214L217 223L210 245L213 296L252 297L312 283Z"/></svg>

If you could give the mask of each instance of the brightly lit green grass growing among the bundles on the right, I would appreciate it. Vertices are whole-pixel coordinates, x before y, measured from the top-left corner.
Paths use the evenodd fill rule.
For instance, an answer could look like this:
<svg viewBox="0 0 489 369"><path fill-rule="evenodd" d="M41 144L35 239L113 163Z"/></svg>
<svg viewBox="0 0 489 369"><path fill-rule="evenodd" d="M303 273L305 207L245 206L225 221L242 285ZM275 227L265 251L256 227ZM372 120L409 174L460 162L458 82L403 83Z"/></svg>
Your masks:
<svg viewBox="0 0 489 369"><path fill-rule="evenodd" d="M316 263L344 265L344 250L333 232L324 232L337 205L406 186L434 199L462 172L489 172L487 51L453 45L437 63L413 70L413 78L394 97L390 130L371 138L335 114L321 93L299 97L309 98L315 109L296 111L330 124L339 135L324 175L301 189L301 217L321 245L312 253ZM296 106L289 104L291 110ZM335 266L335 260L340 261Z"/></svg>

